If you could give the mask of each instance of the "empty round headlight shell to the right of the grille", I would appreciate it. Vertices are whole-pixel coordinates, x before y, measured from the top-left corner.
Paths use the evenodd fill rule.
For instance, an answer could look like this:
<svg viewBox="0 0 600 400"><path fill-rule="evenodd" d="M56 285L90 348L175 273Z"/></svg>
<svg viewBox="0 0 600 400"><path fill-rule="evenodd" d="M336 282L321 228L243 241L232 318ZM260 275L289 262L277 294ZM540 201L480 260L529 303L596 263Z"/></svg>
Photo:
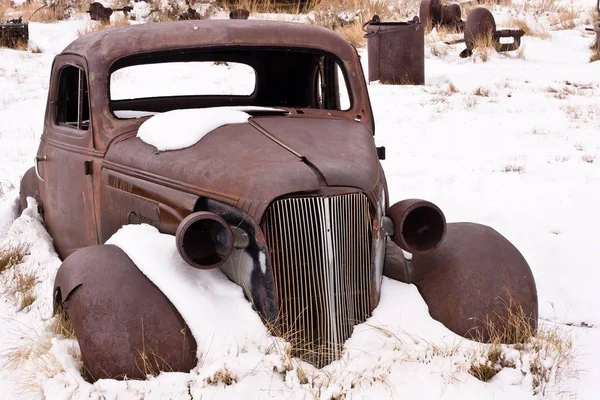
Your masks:
<svg viewBox="0 0 600 400"><path fill-rule="evenodd" d="M392 240L402 250L423 254L439 247L446 234L446 218L435 204L421 199L402 200L387 210L394 223Z"/></svg>

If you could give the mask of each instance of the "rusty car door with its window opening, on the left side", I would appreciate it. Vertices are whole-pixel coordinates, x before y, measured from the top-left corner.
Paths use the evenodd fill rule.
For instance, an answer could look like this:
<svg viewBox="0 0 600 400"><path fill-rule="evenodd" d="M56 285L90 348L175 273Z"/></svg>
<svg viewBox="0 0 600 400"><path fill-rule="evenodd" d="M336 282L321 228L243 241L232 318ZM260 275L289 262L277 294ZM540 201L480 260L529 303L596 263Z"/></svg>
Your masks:
<svg viewBox="0 0 600 400"><path fill-rule="evenodd" d="M96 244L94 151L85 60L54 62L44 132L36 157L42 212L61 258Z"/></svg>

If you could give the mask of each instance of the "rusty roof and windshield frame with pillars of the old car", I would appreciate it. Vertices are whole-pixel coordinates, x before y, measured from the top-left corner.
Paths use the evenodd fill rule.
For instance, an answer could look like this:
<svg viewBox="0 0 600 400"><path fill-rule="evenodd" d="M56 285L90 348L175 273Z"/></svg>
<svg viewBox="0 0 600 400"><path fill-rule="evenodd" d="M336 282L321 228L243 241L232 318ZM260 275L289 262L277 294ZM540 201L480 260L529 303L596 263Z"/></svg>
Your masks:
<svg viewBox="0 0 600 400"><path fill-rule="evenodd" d="M135 46L132 47L132 43ZM95 147L96 151L103 152L112 140L136 130L143 122L143 119L117 119L110 112L106 99L109 98L109 70L113 63L132 54L151 55L166 51L179 52L183 49L209 50L239 46L263 49L277 46L307 48L334 54L349 72L347 87L353 100L351 109L336 111L306 108L304 113L306 116L322 115L350 120L360 115L360 122L374 131L371 105L358 53L341 35L314 25L260 20L136 24L84 35L69 44L58 59L74 54L85 60L87 75L91 77L89 93L94 115L92 129L97 132ZM273 62L281 63L281 58ZM257 65L259 69L263 67L264 64ZM49 122L47 119L47 123Z"/></svg>

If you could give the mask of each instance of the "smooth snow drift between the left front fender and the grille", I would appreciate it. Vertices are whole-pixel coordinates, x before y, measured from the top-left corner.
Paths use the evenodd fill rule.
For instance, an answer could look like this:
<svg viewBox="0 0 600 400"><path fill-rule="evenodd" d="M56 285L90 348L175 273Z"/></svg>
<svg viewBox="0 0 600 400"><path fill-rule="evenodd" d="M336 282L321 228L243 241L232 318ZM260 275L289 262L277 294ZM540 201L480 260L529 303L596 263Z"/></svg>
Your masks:
<svg viewBox="0 0 600 400"><path fill-rule="evenodd" d="M146 224L127 225L106 243L123 249L177 308L196 339L199 360L219 360L270 336L241 287L218 268L190 267L177 252L174 236Z"/></svg>

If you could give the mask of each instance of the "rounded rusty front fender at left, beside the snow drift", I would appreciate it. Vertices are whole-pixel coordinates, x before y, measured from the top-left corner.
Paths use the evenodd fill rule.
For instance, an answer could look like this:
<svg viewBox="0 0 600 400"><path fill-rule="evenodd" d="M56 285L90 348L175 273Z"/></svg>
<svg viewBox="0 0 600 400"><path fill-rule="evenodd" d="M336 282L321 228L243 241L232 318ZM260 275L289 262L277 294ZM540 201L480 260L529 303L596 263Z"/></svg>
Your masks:
<svg viewBox="0 0 600 400"><path fill-rule="evenodd" d="M143 379L150 372L144 365L174 372L196 366L196 342L181 315L120 248L74 253L54 287L94 381Z"/></svg>

